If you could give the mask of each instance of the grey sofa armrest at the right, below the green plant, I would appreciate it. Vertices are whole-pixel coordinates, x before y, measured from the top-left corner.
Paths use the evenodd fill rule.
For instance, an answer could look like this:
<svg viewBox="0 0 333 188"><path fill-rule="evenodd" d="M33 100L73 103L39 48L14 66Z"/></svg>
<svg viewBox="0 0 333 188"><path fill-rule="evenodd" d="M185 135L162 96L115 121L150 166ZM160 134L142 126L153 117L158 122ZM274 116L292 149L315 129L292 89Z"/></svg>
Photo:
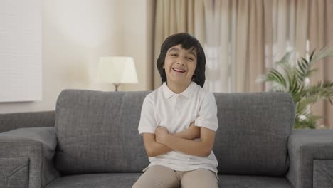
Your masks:
<svg viewBox="0 0 333 188"><path fill-rule="evenodd" d="M293 130L288 152L294 187L333 187L333 130Z"/></svg>

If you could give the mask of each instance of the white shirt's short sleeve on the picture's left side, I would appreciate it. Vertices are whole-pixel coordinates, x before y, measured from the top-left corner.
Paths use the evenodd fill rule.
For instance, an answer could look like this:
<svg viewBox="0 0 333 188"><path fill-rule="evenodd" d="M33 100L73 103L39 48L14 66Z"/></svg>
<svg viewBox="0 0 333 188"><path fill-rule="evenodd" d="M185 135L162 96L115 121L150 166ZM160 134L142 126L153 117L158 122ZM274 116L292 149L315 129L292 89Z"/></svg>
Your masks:
<svg viewBox="0 0 333 188"><path fill-rule="evenodd" d="M155 133L157 122L154 117L154 106L152 95L147 95L142 104L141 117L139 122L139 134Z"/></svg>

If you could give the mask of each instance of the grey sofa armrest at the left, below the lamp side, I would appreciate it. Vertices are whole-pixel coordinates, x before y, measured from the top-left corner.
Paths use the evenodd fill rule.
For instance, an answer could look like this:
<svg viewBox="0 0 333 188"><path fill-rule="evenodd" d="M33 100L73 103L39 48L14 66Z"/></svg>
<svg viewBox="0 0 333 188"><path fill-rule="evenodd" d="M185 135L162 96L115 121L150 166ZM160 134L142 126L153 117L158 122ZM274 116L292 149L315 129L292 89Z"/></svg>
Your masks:
<svg viewBox="0 0 333 188"><path fill-rule="evenodd" d="M20 128L0 133L0 187L45 187L59 173L53 167L55 127Z"/></svg>

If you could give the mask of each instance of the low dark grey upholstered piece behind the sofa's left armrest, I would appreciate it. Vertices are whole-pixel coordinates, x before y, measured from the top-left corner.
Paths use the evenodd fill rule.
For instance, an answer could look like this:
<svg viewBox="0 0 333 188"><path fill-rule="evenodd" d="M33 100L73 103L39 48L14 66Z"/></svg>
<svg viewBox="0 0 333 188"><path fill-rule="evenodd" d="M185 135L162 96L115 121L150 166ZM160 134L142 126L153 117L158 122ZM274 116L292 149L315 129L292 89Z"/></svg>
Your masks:
<svg viewBox="0 0 333 188"><path fill-rule="evenodd" d="M0 132L23 127L54 127L55 111L0 114Z"/></svg>

